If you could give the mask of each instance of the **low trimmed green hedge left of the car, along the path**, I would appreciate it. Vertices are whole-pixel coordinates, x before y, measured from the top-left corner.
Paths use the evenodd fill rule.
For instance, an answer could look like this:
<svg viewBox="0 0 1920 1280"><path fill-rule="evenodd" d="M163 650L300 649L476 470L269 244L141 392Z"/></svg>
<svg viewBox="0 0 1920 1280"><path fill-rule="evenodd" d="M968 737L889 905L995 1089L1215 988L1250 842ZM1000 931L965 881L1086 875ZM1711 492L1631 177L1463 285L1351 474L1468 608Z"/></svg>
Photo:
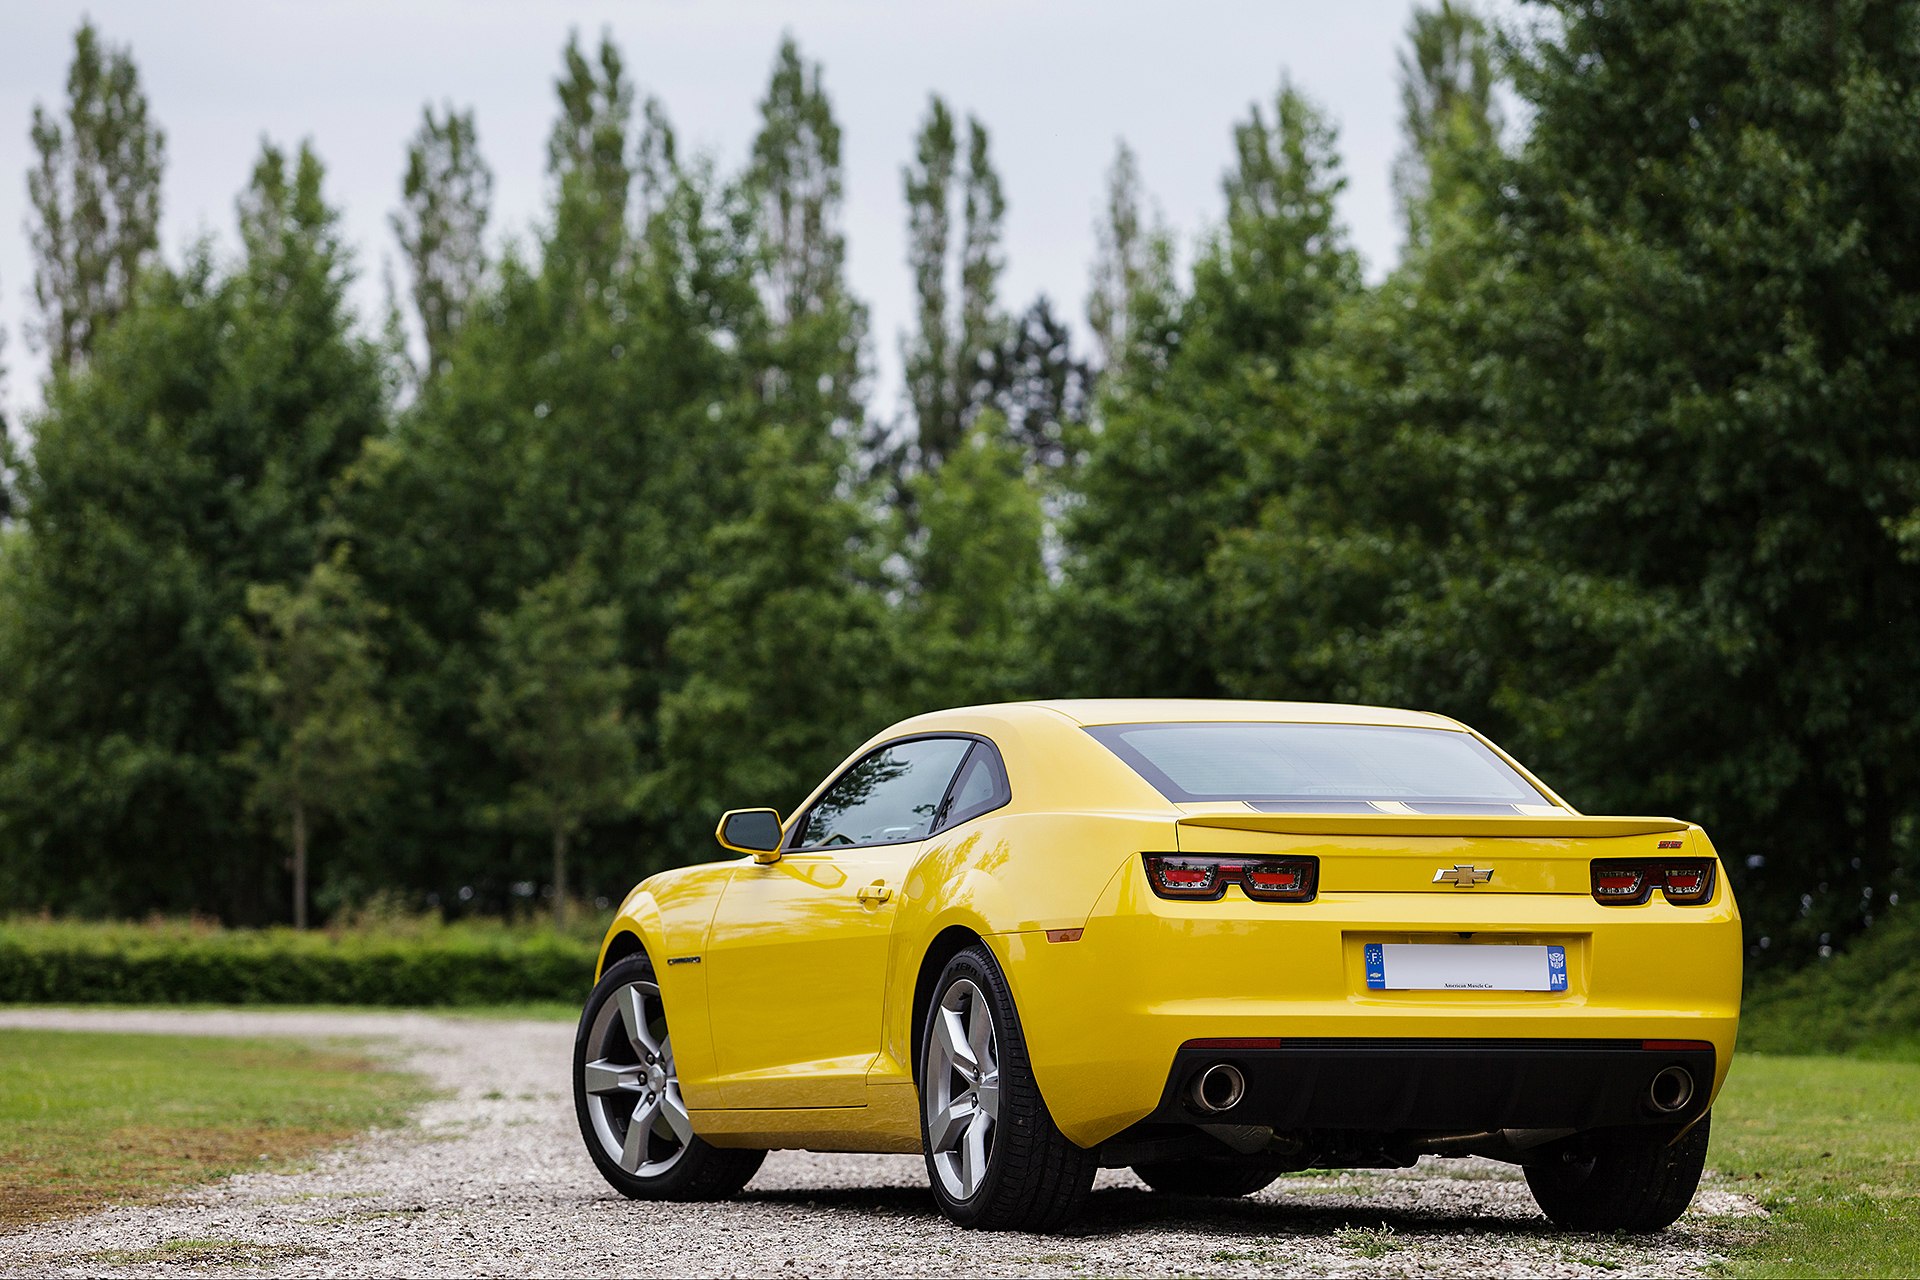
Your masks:
<svg viewBox="0 0 1920 1280"><path fill-rule="evenodd" d="M490 1006L584 1000L597 946L503 927L413 935L0 925L0 1004Z"/></svg>

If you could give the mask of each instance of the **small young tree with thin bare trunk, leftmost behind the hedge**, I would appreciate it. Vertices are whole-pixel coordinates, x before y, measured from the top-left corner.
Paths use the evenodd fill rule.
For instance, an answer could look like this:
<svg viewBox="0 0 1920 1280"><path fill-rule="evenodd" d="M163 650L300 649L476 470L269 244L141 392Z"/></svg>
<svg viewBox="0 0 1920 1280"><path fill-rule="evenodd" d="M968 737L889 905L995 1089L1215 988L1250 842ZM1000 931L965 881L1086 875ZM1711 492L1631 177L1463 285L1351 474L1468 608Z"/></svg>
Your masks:
<svg viewBox="0 0 1920 1280"><path fill-rule="evenodd" d="M407 760L407 731L380 693L378 610L348 566L346 547L298 587L253 583L240 628L248 666L234 689L261 727L232 762L252 779L248 804L284 823L294 871L294 927L307 927L307 839L319 818L365 812Z"/></svg>

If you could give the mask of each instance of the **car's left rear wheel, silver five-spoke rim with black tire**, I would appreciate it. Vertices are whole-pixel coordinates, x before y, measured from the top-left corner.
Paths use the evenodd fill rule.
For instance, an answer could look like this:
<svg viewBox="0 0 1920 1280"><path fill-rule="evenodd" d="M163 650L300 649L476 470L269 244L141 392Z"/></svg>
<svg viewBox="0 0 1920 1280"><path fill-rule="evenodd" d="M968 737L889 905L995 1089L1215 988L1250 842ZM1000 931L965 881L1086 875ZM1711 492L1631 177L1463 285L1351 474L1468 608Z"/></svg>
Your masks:
<svg viewBox="0 0 1920 1280"><path fill-rule="evenodd" d="M1046 1111L985 946L947 961L920 1046L920 1136L941 1213L979 1230L1046 1232L1071 1219L1098 1161Z"/></svg>

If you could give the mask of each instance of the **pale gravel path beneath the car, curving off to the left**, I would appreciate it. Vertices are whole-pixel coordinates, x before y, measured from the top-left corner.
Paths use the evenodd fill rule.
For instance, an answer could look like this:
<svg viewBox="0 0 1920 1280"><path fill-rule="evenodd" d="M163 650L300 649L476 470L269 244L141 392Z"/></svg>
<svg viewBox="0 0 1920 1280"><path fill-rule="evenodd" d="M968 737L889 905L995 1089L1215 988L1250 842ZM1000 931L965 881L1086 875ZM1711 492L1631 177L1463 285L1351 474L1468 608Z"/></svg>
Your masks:
<svg viewBox="0 0 1920 1280"><path fill-rule="evenodd" d="M1761 1213L1705 1188L1644 1242L1551 1232L1490 1161L1281 1178L1169 1201L1100 1174L1068 1236L989 1236L933 1209L920 1157L776 1151L739 1199L647 1205L589 1165L568 1094L572 1027L422 1013L0 1009L4 1027L365 1038L445 1096L294 1173L0 1236L6 1274L1069 1276L1690 1274Z"/></svg>

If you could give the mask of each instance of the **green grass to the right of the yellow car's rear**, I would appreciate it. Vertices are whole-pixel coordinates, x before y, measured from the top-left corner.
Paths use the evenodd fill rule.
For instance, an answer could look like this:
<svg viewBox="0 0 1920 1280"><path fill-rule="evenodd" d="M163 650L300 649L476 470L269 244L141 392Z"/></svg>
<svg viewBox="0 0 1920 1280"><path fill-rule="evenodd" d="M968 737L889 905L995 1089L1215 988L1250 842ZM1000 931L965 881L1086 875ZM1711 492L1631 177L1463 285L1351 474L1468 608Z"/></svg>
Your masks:
<svg viewBox="0 0 1920 1280"><path fill-rule="evenodd" d="M1920 1044L1736 1055L1709 1163L1774 1215L1730 1274L1920 1274Z"/></svg>

